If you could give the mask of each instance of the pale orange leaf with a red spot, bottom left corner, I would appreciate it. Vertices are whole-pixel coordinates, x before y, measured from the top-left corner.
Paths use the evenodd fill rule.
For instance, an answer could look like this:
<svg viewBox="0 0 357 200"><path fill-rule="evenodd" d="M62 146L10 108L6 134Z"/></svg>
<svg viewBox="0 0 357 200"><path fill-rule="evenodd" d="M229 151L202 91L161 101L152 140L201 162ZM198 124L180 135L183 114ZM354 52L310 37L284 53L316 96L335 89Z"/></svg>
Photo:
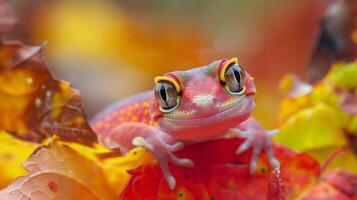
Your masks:
<svg viewBox="0 0 357 200"><path fill-rule="evenodd" d="M23 164L26 176L0 192L0 199L114 199L102 168L54 141Z"/></svg>

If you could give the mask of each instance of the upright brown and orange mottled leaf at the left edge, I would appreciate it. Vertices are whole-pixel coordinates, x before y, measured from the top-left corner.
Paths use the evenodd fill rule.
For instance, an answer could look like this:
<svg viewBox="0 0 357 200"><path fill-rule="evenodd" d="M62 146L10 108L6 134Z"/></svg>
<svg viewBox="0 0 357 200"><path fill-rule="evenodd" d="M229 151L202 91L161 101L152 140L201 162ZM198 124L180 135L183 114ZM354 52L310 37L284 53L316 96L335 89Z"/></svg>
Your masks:
<svg viewBox="0 0 357 200"><path fill-rule="evenodd" d="M18 44L11 52L18 54L23 48ZM52 77L40 47L28 51L29 57L20 56L10 62L14 66L1 68L0 111L7 114L0 117L0 129L33 142L57 135L65 141L93 145L96 135L85 118L79 92Z"/></svg>

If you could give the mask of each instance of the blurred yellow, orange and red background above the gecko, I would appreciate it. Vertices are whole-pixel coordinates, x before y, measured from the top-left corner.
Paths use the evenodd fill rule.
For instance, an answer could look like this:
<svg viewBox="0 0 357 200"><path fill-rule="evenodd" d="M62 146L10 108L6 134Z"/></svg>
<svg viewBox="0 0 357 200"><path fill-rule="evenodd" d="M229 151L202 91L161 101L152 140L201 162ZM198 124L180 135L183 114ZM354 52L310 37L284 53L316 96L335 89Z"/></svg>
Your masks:
<svg viewBox="0 0 357 200"><path fill-rule="evenodd" d="M50 70L82 93L89 116L153 87L153 78L238 57L258 89L255 116L273 128L279 79L306 77L330 0L13 0L14 38L47 41Z"/></svg>

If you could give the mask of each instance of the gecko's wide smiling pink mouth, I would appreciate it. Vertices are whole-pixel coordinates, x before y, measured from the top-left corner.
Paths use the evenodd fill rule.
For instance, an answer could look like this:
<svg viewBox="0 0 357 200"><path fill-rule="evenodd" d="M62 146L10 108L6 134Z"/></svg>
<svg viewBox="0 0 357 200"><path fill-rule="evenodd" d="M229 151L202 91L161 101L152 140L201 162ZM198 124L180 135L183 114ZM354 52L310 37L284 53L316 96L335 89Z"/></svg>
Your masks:
<svg viewBox="0 0 357 200"><path fill-rule="evenodd" d="M215 115L203 118L170 118L169 116L165 116L159 119L158 123L164 131L180 131L242 117L250 114L253 111L254 106L254 97L253 95L249 95L241 99L238 104Z"/></svg>

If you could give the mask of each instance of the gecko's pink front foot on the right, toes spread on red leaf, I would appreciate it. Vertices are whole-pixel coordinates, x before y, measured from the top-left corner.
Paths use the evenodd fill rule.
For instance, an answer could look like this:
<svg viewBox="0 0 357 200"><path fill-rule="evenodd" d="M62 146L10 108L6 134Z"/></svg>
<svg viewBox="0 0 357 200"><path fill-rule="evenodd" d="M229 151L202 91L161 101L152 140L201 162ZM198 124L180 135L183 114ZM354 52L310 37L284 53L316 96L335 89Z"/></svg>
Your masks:
<svg viewBox="0 0 357 200"><path fill-rule="evenodd" d="M252 147L253 152L249 166L249 172L251 174L253 174L257 168L257 163L262 150L265 151L270 166L274 169L280 166L279 161L275 158L271 140L272 136L278 132L279 130L277 129L272 131L264 130L252 117L241 123L237 128L230 130L230 136L233 135L235 137L246 138L243 144L237 148L237 155Z"/></svg>

